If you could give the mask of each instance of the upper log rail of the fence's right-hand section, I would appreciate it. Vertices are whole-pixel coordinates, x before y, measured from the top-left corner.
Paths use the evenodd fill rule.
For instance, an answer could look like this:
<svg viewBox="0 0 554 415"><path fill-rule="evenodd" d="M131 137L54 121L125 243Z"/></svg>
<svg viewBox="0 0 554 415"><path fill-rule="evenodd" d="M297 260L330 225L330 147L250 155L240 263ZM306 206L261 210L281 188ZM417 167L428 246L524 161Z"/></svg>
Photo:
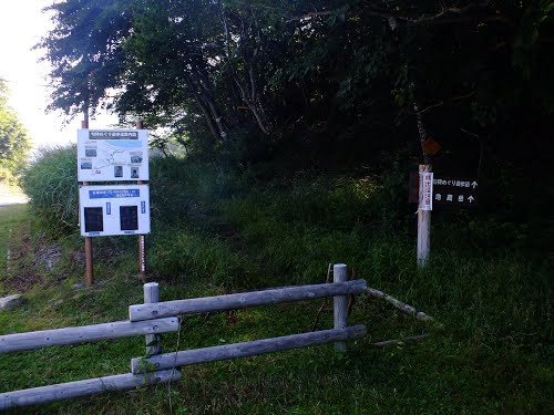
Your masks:
<svg viewBox="0 0 554 415"><path fill-rule="evenodd" d="M367 288L368 286L365 280L353 280L338 283L274 288L264 291L164 301L151 304L135 304L129 308L129 320L141 321L182 314L243 309L253 305L311 300L324 297L361 294Z"/></svg>

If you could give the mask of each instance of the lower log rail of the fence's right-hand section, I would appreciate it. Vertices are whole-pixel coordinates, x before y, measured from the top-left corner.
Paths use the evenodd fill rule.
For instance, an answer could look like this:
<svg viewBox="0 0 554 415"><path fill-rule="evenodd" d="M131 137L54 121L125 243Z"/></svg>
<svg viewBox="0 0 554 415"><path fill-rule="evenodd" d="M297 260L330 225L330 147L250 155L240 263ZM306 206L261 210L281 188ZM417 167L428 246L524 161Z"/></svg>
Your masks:
<svg viewBox="0 0 554 415"><path fill-rule="evenodd" d="M274 339L157 354L150 359L136 357L131 361L131 372L137 374L197 363L246 357L255 354L283 352L336 341L360 339L366 334L366 326L358 324L346 329L321 330Z"/></svg>

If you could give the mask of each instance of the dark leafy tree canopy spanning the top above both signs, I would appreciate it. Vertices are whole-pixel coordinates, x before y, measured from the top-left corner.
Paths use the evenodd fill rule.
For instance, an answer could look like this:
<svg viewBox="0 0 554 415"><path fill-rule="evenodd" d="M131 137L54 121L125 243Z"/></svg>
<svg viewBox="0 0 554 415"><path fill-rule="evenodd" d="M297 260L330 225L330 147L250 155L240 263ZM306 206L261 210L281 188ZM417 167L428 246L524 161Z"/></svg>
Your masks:
<svg viewBox="0 0 554 415"><path fill-rule="evenodd" d="M448 163L478 157L458 149L464 131L496 137L491 156L513 160L527 127L547 131L552 112L547 0L64 0L49 9L55 29L41 46L54 66L52 108L103 103L167 127L187 151L242 165L290 152L312 167L406 148L417 141L414 105L450 149Z"/></svg>

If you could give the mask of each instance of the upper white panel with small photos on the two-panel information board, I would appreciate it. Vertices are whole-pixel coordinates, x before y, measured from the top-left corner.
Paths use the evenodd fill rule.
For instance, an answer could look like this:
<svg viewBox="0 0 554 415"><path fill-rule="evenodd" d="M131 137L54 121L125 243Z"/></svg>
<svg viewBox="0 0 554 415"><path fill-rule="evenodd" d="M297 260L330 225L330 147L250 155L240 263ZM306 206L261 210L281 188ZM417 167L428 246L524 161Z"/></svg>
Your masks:
<svg viewBox="0 0 554 415"><path fill-rule="evenodd" d="M79 181L148 180L146 129L79 129Z"/></svg>

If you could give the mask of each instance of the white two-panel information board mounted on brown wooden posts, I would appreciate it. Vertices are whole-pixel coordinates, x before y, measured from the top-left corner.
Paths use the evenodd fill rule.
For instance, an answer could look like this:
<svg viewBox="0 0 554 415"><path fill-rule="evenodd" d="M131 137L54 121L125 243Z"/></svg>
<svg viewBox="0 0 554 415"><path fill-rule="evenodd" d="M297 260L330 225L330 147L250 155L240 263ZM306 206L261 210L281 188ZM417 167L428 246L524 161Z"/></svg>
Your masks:
<svg viewBox="0 0 554 415"><path fill-rule="evenodd" d="M138 236L138 278L146 271L144 234L150 232L148 132L142 121L136 129L89 129L85 112L78 131L78 180L81 235L85 238L86 284L94 283L92 237ZM102 184L94 181L133 181Z"/></svg>

